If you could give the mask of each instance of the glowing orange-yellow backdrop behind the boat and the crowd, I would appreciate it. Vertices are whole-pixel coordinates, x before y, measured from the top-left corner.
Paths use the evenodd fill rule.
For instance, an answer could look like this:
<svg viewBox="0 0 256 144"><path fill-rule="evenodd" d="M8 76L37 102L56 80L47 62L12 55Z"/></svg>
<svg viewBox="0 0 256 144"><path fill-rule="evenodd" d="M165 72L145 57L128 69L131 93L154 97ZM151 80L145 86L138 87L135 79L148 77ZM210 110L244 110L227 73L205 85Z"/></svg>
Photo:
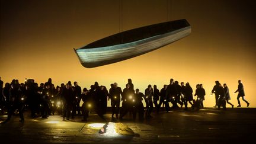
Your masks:
<svg viewBox="0 0 256 144"><path fill-rule="evenodd" d="M206 107L215 105L210 91L219 80L231 92L242 80L245 98L256 107L255 2L252 1L7 1L1 0L0 76L2 81L53 79L55 85L78 81L82 88L98 81L122 89L128 78L144 92L169 79L206 89ZM121 15L121 19L120 19ZM120 30L187 19L192 33L182 40L123 62L87 69L73 48ZM121 25L120 25L121 20ZM241 101L242 106L245 103ZM230 105L228 105L230 107Z"/></svg>

